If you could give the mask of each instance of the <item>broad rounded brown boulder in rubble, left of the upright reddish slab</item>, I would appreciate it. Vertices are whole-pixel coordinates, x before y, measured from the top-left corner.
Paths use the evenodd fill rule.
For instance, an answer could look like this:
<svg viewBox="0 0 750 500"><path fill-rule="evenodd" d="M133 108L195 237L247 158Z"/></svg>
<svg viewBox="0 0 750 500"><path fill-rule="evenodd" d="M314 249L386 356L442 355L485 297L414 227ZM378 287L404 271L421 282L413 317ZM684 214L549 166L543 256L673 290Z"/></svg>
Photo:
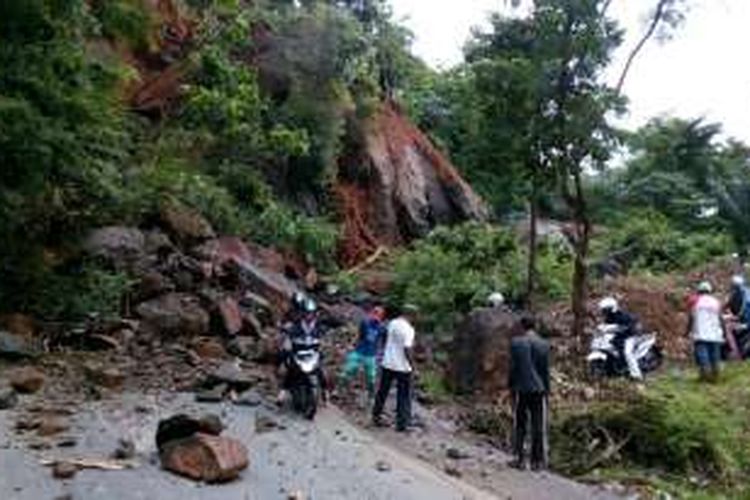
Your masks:
<svg viewBox="0 0 750 500"><path fill-rule="evenodd" d="M170 293L136 308L145 329L167 336L201 336L209 332L210 316L197 297Z"/></svg>

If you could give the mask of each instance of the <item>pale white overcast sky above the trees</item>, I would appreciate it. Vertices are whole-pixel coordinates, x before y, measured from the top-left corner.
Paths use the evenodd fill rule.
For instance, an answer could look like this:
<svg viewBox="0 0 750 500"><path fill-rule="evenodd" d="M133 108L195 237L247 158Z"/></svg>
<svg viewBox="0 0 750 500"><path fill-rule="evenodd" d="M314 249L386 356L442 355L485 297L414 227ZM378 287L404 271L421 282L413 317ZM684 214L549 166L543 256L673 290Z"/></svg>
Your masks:
<svg viewBox="0 0 750 500"><path fill-rule="evenodd" d="M634 66L625 93L629 127L657 115L705 116L727 135L750 144L750 0L688 0L686 23L673 40L651 42ZM414 52L435 67L461 60L472 26L505 0L391 0L397 18L416 35ZM627 28L626 43L610 74L644 29L655 0L613 0L612 14Z"/></svg>

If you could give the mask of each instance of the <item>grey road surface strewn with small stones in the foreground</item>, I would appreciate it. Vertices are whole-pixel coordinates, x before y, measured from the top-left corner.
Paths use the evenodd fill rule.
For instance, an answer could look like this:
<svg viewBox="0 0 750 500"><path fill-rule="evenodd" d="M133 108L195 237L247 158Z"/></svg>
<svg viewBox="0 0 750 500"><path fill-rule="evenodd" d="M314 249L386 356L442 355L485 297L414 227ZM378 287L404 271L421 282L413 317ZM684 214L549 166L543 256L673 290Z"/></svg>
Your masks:
<svg viewBox="0 0 750 500"><path fill-rule="evenodd" d="M148 413L136 407L150 409ZM219 413L224 434L243 441L250 450L250 468L226 485L201 485L159 468L155 456L156 425L176 412ZM256 431L256 419L282 426ZM28 450L15 436L14 413L0 412L0 498L54 499L287 499L299 491L305 499L480 499L493 498L462 484L402 453L376 443L334 409L325 409L314 424L273 409L199 405L186 396L173 400L129 395L118 402L98 403L79 410L69 434L72 449ZM83 470L73 479L52 478L43 458L107 457L118 438L135 442L140 465L131 470ZM378 462L390 470L381 472Z"/></svg>

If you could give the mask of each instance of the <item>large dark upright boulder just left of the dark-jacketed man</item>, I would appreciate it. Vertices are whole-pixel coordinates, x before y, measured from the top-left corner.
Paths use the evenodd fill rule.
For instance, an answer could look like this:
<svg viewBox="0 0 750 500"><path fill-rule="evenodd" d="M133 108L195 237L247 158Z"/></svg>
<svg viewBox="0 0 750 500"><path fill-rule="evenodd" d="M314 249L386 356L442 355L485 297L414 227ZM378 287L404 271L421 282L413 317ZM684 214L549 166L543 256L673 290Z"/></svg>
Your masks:
<svg viewBox="0 0 750 500"><path fill-rule="evenodd" d="M453 339L451 382L457 392L492 397L507 388L510 339L517 324L505 308L469 314Z"/></svg>

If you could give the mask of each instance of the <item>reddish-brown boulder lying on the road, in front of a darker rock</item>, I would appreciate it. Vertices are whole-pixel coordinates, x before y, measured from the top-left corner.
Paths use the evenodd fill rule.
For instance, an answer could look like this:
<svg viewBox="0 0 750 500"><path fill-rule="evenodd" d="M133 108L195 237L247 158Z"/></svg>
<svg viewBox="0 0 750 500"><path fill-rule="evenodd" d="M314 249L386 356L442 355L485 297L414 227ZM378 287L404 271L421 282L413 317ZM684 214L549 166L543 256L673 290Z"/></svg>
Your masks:
<svg viewBox="0 0 750 500"><path fill-rule="evenodd" d="M207 483L236 479L250 463L244 444L202 433L167 443L159 457L164 469Z"/></svg>

